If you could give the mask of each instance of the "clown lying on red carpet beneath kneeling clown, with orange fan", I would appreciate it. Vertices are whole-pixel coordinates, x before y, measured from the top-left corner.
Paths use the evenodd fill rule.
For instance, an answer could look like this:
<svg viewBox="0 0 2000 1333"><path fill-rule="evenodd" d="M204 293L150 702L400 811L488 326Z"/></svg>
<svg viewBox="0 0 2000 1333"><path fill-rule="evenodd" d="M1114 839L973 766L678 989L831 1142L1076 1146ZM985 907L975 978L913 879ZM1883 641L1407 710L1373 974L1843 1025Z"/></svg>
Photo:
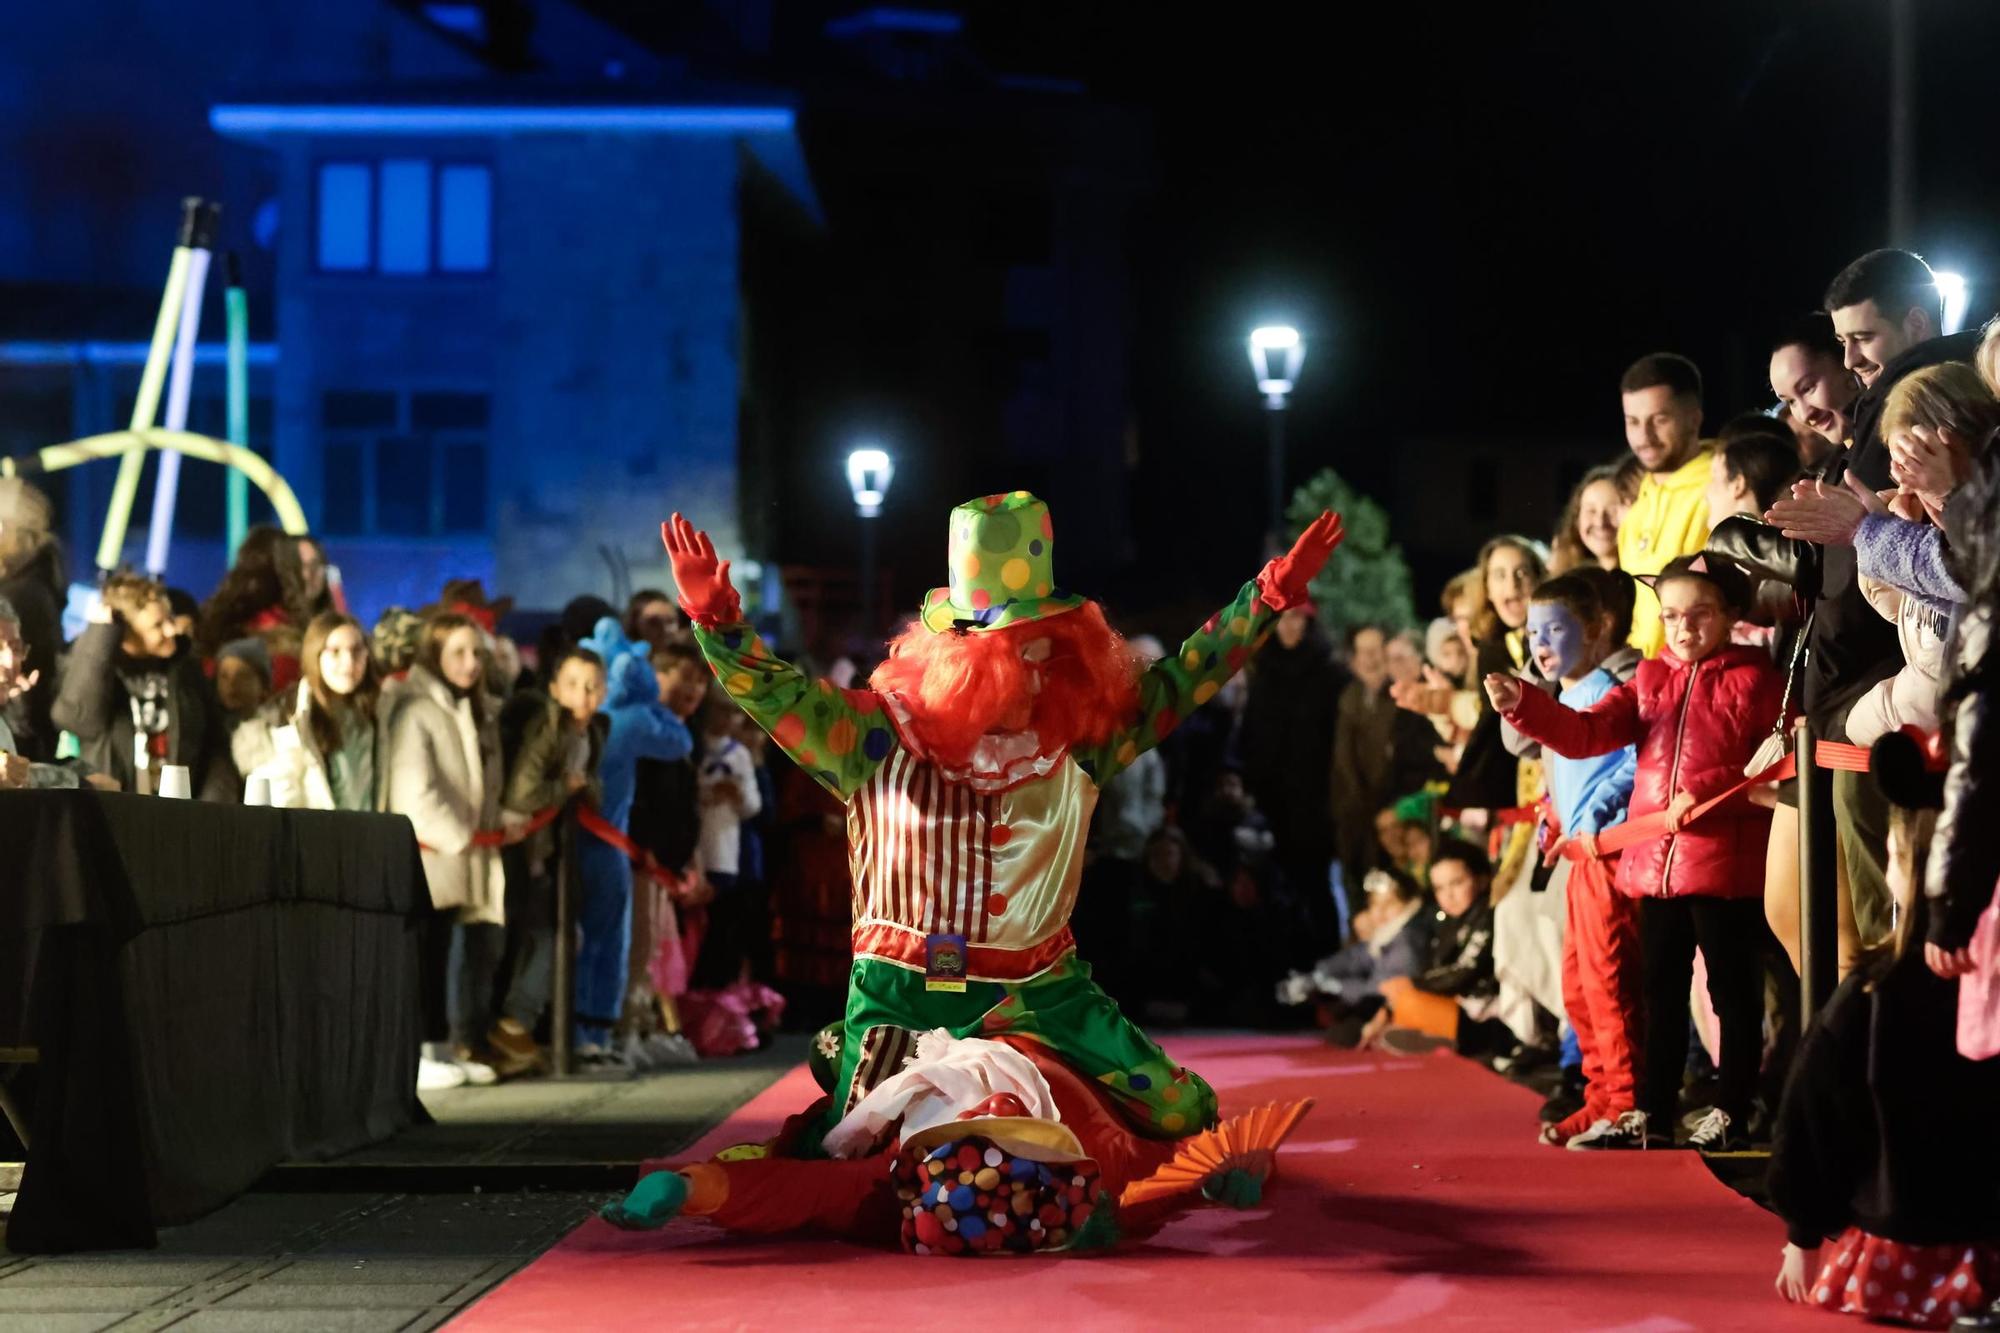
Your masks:
<svg viewBox="0 0 2000 1333"><path fill-rule="evenodd" d="M830 1065L814 1061L830 1085ZM1260 1107L1180 1141L1132 1133L1104 1085L1028 1037L918 1037L910 1065L864 1097L828 1141L856 1157L788 1157L812 1115L770 1145L656 1171L602 1217L652 1229L704 1217L728 1231L816 1231L914 1255L1100 1251L1188 1203L1262 1201L1278 1145L1310 1101ZM900 1125L886 1149L884 1125Z"/></svg>

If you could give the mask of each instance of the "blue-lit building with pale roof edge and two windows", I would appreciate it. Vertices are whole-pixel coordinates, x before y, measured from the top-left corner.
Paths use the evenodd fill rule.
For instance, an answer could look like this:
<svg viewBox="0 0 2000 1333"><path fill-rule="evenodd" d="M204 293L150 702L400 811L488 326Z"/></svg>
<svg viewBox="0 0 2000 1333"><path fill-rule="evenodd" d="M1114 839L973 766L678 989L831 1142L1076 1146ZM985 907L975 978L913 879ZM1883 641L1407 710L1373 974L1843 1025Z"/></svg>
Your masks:
<svg viewBox="0 0 2000 1333"><path fill-rule="evenodd" d="M218 104L276 156L274 460L370 600L480 574L558 606L742 550L746 214L812 210L782 104ZM318 484L312 484L312 482Z"/></svg>

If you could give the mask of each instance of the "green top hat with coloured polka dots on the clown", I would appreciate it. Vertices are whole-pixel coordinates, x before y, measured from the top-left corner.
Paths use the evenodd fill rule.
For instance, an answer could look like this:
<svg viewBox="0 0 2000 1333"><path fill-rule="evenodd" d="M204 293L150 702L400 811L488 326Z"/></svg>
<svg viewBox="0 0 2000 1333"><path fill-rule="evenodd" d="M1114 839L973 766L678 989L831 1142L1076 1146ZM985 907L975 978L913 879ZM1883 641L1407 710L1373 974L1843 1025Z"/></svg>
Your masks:
<svg viewBox="0 0 2000 1333"><path fill-rule="evenodd" d="M1026 490L988 494L952 510L952 582L924 596L924 624L994 630L1076 610L1082 596L1056 586L1056 526Z"/></svg>

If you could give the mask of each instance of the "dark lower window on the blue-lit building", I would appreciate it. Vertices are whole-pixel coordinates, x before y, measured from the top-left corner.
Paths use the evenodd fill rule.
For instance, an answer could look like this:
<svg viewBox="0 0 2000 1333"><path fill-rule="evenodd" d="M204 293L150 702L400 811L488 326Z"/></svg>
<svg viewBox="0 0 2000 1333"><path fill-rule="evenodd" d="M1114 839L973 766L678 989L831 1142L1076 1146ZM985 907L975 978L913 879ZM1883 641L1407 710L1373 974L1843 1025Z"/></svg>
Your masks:
<svg viewBox="0 0 2000 1333"><path fill-rule="evenodd" d="M490 418L482 392L320 394L320 526L346 536L486 532Z"/></svg>

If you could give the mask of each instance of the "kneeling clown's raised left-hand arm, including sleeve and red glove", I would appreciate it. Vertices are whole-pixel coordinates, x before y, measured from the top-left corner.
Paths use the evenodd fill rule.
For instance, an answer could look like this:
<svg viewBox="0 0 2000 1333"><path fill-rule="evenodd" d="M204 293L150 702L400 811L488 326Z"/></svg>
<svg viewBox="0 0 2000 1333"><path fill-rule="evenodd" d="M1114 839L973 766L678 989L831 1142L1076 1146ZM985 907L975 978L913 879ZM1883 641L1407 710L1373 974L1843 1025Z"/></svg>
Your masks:
<svg viewBox="0 0 2000 1333"><path fill-rule="evenodd" d="M820 787L842 801L854 797L896 749L882 697L812 681L780 658L744 622L730 562L716 560L708 534L680 514L660 534L674 562L680 606L694 620L694 640L722 689Z"/></svg>

